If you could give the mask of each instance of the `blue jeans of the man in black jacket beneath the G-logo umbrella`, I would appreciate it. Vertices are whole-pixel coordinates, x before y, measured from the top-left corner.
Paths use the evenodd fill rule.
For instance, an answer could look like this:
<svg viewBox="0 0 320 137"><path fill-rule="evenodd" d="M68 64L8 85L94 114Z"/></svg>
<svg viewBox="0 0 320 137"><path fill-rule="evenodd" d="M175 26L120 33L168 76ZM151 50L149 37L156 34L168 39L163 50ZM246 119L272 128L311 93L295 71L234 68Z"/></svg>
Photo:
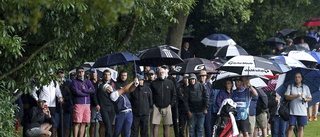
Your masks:
<svg viewBox="0 0 320 137"><path fill-rule="evenodd" d="M190 137L202 137L204 125L203 112L192 112L192 119L189 120Z"/></svg>

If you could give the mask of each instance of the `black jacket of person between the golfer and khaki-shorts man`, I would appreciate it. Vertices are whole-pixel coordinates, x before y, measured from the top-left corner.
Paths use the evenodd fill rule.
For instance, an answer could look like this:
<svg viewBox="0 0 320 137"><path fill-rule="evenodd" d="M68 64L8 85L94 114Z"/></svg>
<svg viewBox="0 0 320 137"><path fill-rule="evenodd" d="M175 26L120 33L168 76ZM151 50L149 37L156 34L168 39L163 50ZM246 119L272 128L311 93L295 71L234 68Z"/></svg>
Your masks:
<svg viewBox="0 0 320 137"><path fill-rule="evenodd" d="M151 89L147 86L138 86L130 93L130 102L133 115L149 115L153 104Z"/></svg>

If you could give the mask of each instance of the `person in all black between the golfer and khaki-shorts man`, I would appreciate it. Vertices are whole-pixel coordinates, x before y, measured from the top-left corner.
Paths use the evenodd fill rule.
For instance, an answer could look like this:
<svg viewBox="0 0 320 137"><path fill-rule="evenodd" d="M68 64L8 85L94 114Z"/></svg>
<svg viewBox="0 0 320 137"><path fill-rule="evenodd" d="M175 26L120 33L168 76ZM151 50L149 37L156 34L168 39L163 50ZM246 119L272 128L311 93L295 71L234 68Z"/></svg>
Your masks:
<svg viewBox="0 0 320 137"><path fill-rule="evenodd" d="M138 76L139 86L130 93L130 102L133 112L133 123L131 127L131 136L138 137L139 129L141 137L148 137L148 125L150 108L152 107L152 91L144 85L142 75Z"/></svg>

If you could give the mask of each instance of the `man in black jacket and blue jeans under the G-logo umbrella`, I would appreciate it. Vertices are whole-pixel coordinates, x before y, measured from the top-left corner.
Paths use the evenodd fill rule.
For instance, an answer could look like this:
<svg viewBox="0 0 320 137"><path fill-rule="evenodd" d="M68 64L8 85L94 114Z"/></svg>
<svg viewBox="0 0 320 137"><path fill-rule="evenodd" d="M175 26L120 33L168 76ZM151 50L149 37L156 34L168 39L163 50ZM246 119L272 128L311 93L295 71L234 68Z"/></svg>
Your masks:
<svg viewBox="0 0 320 137"><path fill-rule="evenodd" d="M204 85L197 82L195 74L190 74L189 86L185 94L189 118L190 137L202 137L204 116L208 113L208 94Z"/></svg>

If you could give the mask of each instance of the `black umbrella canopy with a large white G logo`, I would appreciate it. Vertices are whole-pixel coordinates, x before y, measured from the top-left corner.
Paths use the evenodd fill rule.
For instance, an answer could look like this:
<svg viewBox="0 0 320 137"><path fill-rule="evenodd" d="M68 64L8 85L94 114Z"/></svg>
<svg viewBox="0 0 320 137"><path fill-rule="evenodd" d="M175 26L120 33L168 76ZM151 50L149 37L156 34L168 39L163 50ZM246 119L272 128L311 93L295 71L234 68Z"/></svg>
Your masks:
<svg viewBox="0 0 320 137"><path fill-rule="evenodd" d="M222 63L210 61L204 58L188 58L184 59L182 63L175 65L174 74L199 73L201 70L207 73L217 73L217 68Z"/></svg>

